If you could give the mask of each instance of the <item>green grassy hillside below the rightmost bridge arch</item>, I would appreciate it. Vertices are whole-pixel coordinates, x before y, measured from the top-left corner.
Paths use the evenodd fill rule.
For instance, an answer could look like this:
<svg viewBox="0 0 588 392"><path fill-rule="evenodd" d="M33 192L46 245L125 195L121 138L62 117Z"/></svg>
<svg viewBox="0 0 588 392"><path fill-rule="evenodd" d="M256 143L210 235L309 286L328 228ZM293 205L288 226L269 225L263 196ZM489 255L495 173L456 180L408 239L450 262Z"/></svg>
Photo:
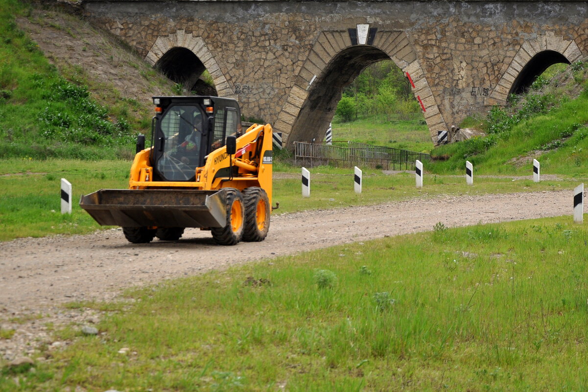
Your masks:
<svg viewBox="0 0 588 392"><path fill-rule="evenodd" d="M432 152L435 173L462 172L466 160L477 173L528 173L533 158L542 173L581 175L588 162L588 63L577 62L537 79L528 93L513 96L505 108L466 125L487 132Z"/></svg>

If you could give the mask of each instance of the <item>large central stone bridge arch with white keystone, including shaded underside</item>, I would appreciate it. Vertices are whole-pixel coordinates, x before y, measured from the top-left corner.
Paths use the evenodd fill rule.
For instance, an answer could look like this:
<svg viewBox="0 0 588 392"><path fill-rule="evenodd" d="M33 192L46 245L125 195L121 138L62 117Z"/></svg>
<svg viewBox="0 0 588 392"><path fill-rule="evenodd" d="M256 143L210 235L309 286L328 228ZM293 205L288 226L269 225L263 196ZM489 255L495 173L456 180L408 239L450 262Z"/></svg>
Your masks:
<svg viewBox="0 0 588 392"><path fill-rule="evenodd" d="M437 131L447 126L406 32L357 25L347 31L323 31L316 39L275 123L278 132L287 134L286 147L292 148L296 141L322 140L343 87L366 66L383 59L391 59L410 75L431 138L437 142Z"/></svg>

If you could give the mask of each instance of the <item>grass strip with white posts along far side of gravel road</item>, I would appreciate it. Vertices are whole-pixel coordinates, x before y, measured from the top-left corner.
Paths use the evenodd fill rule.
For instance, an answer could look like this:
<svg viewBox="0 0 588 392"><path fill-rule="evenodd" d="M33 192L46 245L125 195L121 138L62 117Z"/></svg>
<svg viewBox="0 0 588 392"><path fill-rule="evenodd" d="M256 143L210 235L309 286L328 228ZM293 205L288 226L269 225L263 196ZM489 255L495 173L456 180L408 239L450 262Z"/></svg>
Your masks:
<svg viewBox="0 0 588 392"><path fill-rule="evenodd" d="M437 195L480 195L483 193L532 192L534 190L573 189L588 175L570 179L512 181L509 177L479 177L467 186L462 176L425 174L425 187L416 189L413 173L384 175L381 170L363 170L363 192L353 192L353 171L333 167L311 169L311 197L301 196L300 169L276 163L273 180L275 213L375 205L412 197ZM131 162L126 160L0 160L0 241L18 237L43 237L52 234L82 234L101 229L78 206L79 196L98 189L126 189ZM545 173L545 172L543 172ZM73 187L71 215L61 215L61 178Z"/></svg>

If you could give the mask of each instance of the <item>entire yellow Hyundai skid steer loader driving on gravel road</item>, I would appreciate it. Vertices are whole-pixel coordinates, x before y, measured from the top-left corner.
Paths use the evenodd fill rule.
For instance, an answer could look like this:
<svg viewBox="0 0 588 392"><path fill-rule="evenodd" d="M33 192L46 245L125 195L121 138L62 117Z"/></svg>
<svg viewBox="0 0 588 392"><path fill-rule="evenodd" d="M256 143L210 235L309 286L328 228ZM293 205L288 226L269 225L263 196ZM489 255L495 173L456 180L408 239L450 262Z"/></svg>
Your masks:
<svg viewBox="0 0 588 392"><path fill-rule="evenodd" d="M129 189L101 189L79 205L132 243L178 240L186 227L211 230L222 245L265 239L272 127L242 132L234 99L155 96L153 104L151 147L139 135Z"/></svg>

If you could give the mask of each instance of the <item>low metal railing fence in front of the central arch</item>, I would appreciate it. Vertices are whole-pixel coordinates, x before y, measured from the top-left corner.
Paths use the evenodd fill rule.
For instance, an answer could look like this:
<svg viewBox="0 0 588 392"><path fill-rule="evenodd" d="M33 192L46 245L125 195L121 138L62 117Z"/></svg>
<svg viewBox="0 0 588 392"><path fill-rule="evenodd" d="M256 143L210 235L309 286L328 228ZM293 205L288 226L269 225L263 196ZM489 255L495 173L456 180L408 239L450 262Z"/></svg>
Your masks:
<svg viewBox="0 0 588 392"><path fill-rule="evenodd" d="M392 147L356 142L294 142L296 165L369 166L384 170L414 170L416 160L426 162L430 155Z"/></svg>

